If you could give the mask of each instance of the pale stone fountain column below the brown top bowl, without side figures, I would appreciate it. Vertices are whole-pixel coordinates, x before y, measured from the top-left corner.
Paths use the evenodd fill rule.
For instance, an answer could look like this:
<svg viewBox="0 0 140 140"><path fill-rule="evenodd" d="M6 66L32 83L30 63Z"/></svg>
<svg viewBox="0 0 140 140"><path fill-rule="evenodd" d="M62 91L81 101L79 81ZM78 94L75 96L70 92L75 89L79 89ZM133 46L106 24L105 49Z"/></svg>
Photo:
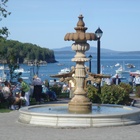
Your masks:
<svg viewBox="0 0 140 140"><path fill-rule="evenodd" d="M85 51L89 50L90 46L86 42L76 42L72 44L72 50L76 52L75 57L72 61L76 62L75 67L75 91L74 97L68 104L69 112L73 113L89 113L92 110L92 103L87 98L87 93L84 90L85 79L86 79L86 69L85 62L89 61L85 56Z"/></svg>

